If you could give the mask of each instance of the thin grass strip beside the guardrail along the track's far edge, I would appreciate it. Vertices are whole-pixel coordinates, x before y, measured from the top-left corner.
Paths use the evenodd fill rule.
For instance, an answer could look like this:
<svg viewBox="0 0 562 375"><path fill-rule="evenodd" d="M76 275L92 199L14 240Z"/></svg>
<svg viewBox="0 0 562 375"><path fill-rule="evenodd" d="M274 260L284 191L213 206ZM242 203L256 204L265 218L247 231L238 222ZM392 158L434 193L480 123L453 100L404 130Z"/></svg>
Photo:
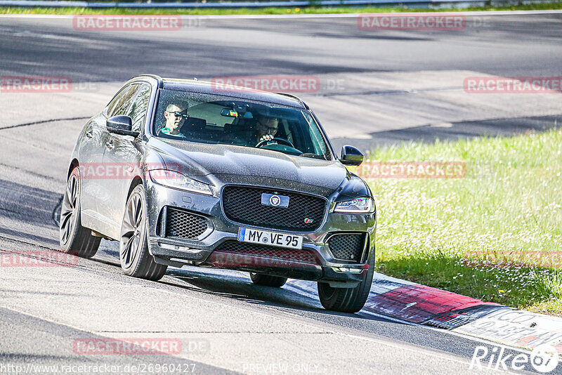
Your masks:
<svg viewBox="0 0 562 375"><path fill-rule="evenodd" d="M472 8L408 8L407 6L396 8L350 8L350 7L301 7L301 8L205 8L205 9L161 9L161 8L18 8L0 7L0 14L123 14L123 15L143 15L143 14L179 14L179 15L261 15L261 14L327 14L327 13L403 13L403 12L463 12L463 11L540 11L562 9L562 1L544 2L538 4L521 4L516 6L484 6Z"/></svg>

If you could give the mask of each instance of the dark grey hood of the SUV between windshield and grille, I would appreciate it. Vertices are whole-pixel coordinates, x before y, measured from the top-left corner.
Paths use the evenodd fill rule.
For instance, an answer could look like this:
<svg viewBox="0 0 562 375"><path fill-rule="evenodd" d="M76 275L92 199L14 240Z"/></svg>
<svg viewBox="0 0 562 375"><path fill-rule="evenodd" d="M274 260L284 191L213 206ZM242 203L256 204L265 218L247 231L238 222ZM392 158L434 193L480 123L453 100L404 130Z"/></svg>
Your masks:
<svg viewBox="0 0 562 375"><path fill-rule="evenodd" d="M242 183L329 195L351 178L338 161L296 157L236 145L151 138L166 168L214 185Z"/></svg>

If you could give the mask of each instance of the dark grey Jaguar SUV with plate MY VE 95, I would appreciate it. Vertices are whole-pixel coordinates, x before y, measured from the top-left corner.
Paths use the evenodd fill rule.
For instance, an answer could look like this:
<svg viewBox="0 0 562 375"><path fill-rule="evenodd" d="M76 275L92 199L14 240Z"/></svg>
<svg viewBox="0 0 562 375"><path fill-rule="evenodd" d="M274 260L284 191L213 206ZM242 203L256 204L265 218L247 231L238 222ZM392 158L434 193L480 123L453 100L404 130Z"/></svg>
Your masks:
<svg viewBox="0 0 562 375"><path fill-rule="evenodd" d="M82 129L68 169L60 244L86 258L119 241L126 275L171 266L318 282L329 310L356 312L374 272L367 184L336 157L302 100L210 82L139 76Z"/></svg>

